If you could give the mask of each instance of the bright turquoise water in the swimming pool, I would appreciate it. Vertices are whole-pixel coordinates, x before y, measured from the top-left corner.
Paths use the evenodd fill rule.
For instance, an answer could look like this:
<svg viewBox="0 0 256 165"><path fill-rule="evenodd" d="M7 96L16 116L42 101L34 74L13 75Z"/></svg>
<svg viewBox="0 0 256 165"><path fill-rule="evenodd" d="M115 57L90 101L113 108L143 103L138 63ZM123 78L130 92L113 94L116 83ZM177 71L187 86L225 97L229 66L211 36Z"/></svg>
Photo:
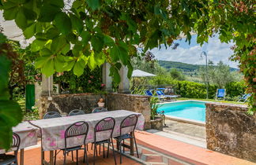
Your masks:
<svg viewBox="0 0 256 165"><path fill-rule="evenodd" d="M176 116L184 119L194 119L205 122L205 102L182 101L161 105L158 112L164 111L164 115Z"/></svg>

